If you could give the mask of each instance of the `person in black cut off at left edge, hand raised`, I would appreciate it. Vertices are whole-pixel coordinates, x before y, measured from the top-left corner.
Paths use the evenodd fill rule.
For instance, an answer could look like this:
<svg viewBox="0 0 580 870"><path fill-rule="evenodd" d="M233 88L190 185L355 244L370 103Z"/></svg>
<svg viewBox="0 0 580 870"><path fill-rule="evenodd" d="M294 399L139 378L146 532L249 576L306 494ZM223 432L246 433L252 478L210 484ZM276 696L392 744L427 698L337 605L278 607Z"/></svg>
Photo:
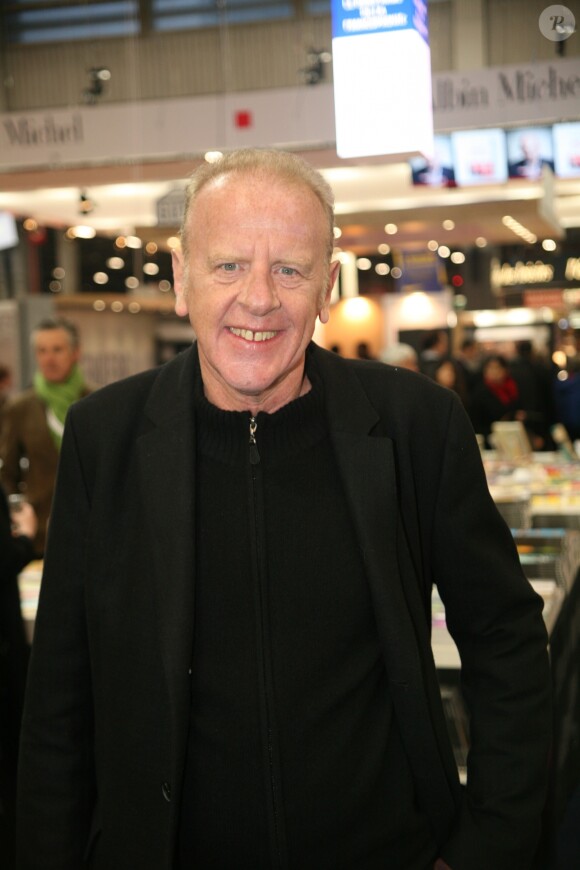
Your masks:
<svg viewBox="0 0 580 870"><path fill-rule="evenodd" d="M14 866L16 771L29 646L18 574L34 558L36 514L27 502L9 509L0 487L0 864Z"/></svg>

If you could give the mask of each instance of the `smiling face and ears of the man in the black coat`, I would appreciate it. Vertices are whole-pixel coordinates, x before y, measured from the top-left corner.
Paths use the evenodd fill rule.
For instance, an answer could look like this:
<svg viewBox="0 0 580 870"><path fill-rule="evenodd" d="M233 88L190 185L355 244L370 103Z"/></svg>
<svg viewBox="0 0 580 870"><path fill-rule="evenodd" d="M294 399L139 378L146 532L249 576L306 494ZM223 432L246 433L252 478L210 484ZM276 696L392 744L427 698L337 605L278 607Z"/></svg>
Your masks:
<svg viewBox="0 0 580 870"><path fill-rule="evenodd" d="M304 352L328 318L338 264L305 186L226 176L202 189L174 255L176 310L189 313L205 393L225 410L272 412L306 391Z"/></svg>

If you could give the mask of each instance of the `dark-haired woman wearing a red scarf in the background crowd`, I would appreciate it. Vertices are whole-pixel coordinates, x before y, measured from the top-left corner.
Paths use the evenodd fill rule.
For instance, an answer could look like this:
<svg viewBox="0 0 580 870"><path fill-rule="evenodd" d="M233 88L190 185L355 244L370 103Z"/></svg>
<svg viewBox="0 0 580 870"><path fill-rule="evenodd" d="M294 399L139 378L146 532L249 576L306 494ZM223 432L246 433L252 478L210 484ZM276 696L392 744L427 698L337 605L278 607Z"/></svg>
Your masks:
<svg viewBox="0 0 580 870"><path fill-rule="evenodd" d="M492 423L520 419L518 387L502 354L493 353L484 360L482 383L471 397L469 413L473 428L483 435L488 449L493 448Z"/></svg>

